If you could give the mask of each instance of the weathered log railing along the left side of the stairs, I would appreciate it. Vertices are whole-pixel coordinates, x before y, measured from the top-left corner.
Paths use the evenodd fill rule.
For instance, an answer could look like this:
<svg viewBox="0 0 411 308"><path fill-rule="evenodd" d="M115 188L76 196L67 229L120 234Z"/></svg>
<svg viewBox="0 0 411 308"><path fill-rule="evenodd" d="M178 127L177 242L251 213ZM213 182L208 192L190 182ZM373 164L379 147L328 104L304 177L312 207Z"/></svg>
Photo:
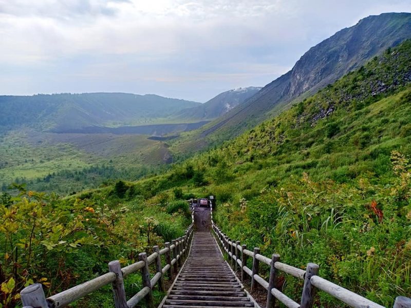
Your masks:
<svg viewBox="0 0 411 308"><path fill-rule="evenodd" d="M111 261L108 263L108 273L48 298L45 297L40 283L29 285L20 293L24 306L23 308L65 307L110 283L113 288L116 308L135 307L143 298L146 299L148 307L153 308L153 287L158 284L160 291L166 291L164 286L164 276L167 273L167 276L172 280L173 276L175 277L177 275L178 266L181 267L183 261L188 257L192 239L193 224L185 230L183 237L173 240L172 244L166 242L163 249L160 249L159 246L154 246L153 253L150 256L147 257L146 253L140 253L138 262L123 268L121 268L118 260ZM161 256L163 256L164 263L166 263L164 267L162 267ZM148 265L152 263L155 264L156 272L151 278ZM123 278L136 273L137 271L141 272L143 288L136 295L127 300L124 292Z"/></svg>

